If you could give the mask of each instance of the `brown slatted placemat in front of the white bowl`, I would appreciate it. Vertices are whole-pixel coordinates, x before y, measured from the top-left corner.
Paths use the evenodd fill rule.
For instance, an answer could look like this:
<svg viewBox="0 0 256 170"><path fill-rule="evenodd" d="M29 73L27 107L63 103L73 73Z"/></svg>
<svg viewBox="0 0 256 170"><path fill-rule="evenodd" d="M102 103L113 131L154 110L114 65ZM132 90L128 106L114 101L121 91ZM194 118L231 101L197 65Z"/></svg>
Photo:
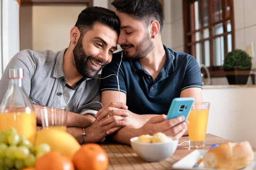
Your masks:
<svg viewBox="0 0 256 170"><path fill-rule="evenodd" d="M101 144L101 147L109 156L108 170L170 170L176 162L172 157L157 162L143 161L128 145Z"/></svg>

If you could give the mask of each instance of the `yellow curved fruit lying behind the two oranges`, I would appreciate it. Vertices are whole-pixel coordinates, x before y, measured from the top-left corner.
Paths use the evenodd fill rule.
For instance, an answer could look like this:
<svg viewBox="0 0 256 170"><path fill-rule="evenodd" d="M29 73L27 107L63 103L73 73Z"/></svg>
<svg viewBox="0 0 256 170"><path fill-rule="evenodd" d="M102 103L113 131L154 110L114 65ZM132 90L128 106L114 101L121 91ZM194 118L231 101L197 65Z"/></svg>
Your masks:
<svg viewBox="0 0 256 170"><path fill-rule="evenodd" d="M77 140L69 133L50 128L37 131L35 146L42 143L49 144L51 151L63 153L70 159L73 158L73 154L81 147Z"/></svg>

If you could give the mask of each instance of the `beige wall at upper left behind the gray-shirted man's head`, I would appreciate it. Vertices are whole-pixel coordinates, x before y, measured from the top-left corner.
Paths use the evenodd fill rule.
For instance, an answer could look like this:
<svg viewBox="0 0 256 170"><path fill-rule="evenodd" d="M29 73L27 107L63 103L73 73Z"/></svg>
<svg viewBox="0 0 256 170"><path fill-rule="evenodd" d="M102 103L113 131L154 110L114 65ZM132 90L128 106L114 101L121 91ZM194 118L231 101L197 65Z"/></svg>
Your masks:
<svg viewBox="0 0 256 170"><path fill-rule="evenodd" d="M70 30L86 5L34 5L21 7L21 50L67 48ZM32 33L32 34L31 34Z"/></svg>

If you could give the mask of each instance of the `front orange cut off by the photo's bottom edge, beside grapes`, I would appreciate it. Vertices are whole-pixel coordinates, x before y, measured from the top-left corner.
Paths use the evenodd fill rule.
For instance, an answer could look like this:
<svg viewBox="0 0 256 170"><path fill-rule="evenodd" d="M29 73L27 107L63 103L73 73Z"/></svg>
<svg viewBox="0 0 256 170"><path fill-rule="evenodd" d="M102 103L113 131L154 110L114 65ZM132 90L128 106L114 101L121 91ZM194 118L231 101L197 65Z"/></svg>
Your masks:
<svg viewBox="0 0 256 170"><path fill-rule="evenodd" d="M74 165L67 156L51 151L37 159L36 170L74 170Z"/></svg>

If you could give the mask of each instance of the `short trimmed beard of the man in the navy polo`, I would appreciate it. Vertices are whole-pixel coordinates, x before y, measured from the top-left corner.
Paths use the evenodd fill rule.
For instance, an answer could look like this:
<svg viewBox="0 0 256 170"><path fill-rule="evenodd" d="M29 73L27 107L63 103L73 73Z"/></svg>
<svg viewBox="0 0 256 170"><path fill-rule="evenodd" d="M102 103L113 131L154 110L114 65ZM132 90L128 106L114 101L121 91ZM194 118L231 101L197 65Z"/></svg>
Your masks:
<svg viewBox="0 0 256 170"><path fill-rule="evenodd" d="M121 45L121 47L126 47L126 46L134 46L132 44L128 45ZM151 41L150 35L149 33L145 33L144 38L138 43L137 47L135 48L135 54L133 55L128 55L128 54L124 54L124 59L144 59L149 52L151 52L154 48L154 44Z"/></svg>

